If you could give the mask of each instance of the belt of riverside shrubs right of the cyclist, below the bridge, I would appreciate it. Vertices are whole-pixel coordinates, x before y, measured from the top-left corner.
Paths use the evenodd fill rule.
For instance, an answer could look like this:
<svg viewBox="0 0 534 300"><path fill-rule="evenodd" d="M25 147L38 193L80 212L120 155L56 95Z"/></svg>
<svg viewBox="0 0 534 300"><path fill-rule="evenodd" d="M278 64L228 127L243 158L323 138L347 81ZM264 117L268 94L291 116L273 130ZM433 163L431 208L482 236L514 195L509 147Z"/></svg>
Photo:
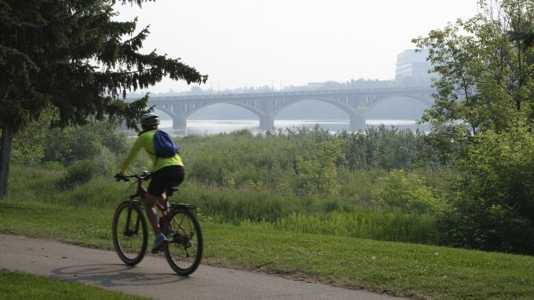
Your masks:
<svg viewBox="0 0 534 300"><path fill-rule="evenodd" d="M359 198L368 195L359 188L368 180L362 171L440 167L422 133L388 131L384 126L368 128L366 133L329 133L316 127L255 136L187 136L179 144L192 180L235 188L262 185L296 194L340 193ZM322 168L329 174L322 176ZM354 172L361 178L353 176Z"/></svg>

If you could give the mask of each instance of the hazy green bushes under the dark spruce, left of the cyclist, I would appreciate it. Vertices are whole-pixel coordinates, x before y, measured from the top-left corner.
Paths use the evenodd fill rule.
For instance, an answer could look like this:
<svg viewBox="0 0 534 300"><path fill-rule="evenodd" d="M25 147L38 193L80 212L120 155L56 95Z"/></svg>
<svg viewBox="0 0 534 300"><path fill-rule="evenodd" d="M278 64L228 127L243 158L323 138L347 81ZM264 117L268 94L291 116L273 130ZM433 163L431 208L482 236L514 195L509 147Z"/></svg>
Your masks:
<svg viewBox="0 0 534 300"><path fill-rule="evenodd" d="M14 138L16 163L67 167L65 182L73 187L98 175L114 174L133 143L126 133L116 131L109 122L91 122L85 126L48 128L42 122L27 127ZM79 165L79 166L77 166ZM150 169L144 154L133 163L138 170Z"/></svg>

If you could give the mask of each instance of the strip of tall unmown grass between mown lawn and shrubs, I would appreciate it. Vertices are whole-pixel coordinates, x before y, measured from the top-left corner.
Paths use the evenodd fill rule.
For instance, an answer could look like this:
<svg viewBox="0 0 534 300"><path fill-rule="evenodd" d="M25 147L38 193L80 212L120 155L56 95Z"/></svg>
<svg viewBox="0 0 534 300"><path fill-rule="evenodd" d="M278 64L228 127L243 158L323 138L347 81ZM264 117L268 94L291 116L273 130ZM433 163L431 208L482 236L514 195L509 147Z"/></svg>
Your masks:
<svg viewBox="0 0 534 300"><path fill-rule="evenodd" d="M134 187L97 177L66 187L65 171L45 167L12 167L8 201L58 206L114 208L135 193ZM268 189L233 189L187 182L173 202L199 205L199 213L214 223L244 228L370 238L436 245L436 217L318 195L282 194Z"/></svg>

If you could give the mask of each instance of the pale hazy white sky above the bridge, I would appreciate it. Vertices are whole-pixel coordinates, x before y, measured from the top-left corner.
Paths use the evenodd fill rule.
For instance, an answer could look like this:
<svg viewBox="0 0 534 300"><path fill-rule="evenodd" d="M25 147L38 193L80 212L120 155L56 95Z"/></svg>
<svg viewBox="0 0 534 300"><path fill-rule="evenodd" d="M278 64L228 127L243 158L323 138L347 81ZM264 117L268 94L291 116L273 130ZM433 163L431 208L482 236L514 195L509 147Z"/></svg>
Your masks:
<svg viewBox="0 0 534 300"><path fill-rule="evenodd" d="M476 0L157 0L118 5L120 20L150 24L144 49L194 66L220 90L394 79L411 39L477 13ZM165 80L153 92L189 90Z"/></svg>

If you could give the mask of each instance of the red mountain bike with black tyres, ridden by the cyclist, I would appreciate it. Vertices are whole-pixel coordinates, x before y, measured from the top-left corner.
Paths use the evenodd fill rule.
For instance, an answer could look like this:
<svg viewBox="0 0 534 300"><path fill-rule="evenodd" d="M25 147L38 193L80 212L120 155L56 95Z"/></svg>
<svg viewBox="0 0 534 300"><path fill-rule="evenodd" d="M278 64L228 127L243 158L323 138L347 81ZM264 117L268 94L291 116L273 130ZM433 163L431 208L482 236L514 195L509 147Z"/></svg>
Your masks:
<svg viewBox="0 0 534 300"><path fill-rule="evenodd" d="M151 173L125 175L117 181L130 181L135 178L137 192L129 200L118 204L112 223L112 236L115 251L120 260L130 266L141 262L147 253L147 220L142 213L141 195L146 193L142 182L151 179ZM160 229L166 234L168 242L162 250L170 267L179 275L190 275L199 267L203 237L201 226L194 214L195 204L171 204L169 197L178 187L168 187L166 203L157 201L155 206L162 212Z"/></svg>

